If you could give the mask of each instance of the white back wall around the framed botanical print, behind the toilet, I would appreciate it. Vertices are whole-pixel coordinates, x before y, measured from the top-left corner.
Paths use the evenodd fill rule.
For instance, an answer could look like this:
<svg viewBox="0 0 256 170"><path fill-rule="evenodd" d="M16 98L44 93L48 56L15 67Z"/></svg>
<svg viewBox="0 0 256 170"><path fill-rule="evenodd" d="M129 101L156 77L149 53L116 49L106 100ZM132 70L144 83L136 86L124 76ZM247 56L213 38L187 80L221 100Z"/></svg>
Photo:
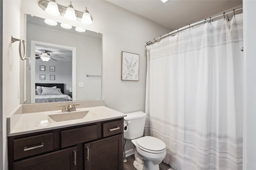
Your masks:
<svg viewBox="0 0 256 170"><path fill-rule="evenodd" d="M69 2L58 0L57 3L67 6ZM106 106L124 113L144 111L146 86L144 42L159 37L169 30L105 0L73 0L72 5L78 11L84 11L87 7L93 18L92 25L67 21L62 16L50 16L38 6L37 1L22 0L22 12L102 33L102 98L105 99ZM140 55L140 81L121 80L122 51Z"/></svg>

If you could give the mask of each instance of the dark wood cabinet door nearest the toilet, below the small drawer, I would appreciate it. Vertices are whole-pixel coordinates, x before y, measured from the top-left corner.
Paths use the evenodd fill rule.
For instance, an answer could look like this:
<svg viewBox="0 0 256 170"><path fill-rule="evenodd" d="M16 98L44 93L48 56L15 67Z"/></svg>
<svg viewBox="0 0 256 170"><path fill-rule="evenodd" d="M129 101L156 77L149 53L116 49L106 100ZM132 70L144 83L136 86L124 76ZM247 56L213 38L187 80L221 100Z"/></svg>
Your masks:
<svg viewBox="0 0 256 170"><path fill-rule="evenodd" d="M123 134L84 145L85 170L122 170Z"/></svg>

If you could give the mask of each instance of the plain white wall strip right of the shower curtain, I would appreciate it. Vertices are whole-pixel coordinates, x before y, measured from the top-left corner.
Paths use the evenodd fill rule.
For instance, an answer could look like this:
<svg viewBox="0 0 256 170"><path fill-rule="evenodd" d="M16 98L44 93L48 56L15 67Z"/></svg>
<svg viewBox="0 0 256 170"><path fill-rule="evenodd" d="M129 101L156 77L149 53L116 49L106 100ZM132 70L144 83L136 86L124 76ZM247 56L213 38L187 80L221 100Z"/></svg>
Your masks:
<svg viewBox="0 0 256 170"><path fill-rule="evenodd" d="M243 169L256 170L256 1L243 0L244 18L244 137Z"/></svg>

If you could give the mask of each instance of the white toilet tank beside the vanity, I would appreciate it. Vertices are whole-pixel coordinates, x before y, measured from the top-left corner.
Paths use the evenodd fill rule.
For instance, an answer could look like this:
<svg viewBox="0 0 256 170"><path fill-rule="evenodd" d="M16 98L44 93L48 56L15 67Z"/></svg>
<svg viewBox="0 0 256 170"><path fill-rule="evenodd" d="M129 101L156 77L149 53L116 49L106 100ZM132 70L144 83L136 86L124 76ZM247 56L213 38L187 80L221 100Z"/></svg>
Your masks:
<svg viewBox="0 0 256 170"><path fill-rule="evenodd" d="M127 117L124 117L124 127L126 124L128 125L127 129L124 128L124 139L136 139L142 137L146 122L146 113L136 111L126 113L126 115Z"/></svg>

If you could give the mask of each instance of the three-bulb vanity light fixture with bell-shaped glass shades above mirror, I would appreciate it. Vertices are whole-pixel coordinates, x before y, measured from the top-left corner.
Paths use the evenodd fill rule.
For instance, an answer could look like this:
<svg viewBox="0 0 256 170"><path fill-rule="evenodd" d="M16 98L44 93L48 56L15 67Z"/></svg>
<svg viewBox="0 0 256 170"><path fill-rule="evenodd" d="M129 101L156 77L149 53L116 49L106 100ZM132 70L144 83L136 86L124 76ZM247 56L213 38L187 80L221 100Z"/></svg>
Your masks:
<svg viewBox="0 0 256 170"><path fill-rule="evenodd" d="M38 5L40 6L40 8L42 8L42 10L46 11L48 9L48 6L53 3L56 4L55 0L50 0L50 2L47 0L40 0L38 2ZM50 5L50 6L52 6L52 5ZM50 6L49 6L49 9L52 8L52 7L50 8ZM60 15L64 16L64 18L66 18L67 20L72 20L72 21L78 20L87 25L92 24L92 17L90 16L87 8L85 8L84 13L82 13L80 11L74 10L71 2L69 4L68 8L65 6L58 5L58 4L56 4L56 6L58 9L57 12L59 12ZM56 16L56 15L54 15L55 13L53 13L53 14L48 13L48 14Z"/></svg>

